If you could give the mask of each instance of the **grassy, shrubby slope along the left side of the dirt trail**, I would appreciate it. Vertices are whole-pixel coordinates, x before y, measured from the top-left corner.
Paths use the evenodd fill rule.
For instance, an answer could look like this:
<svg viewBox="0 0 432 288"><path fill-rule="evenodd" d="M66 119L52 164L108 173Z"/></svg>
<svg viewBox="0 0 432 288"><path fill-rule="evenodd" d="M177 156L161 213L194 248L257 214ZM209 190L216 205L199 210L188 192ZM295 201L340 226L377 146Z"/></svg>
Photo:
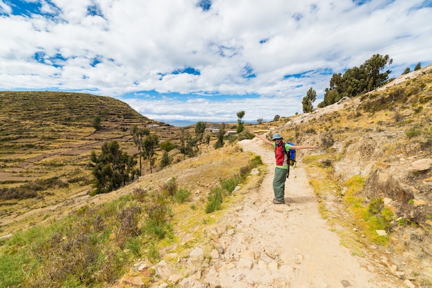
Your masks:
<svg viewBox="0 0 432 288"><path fill-rule="evenodd" d="M209 238L203 233L213 229L224 212L206 214L208 192L219 185L221 176L235 177L242 167L252 167L252 159L252 154L236 145L223 147L143 176L139 183L112 194L96 196L104 199L99 205L82 203L84 206L75 207L77 212L70 216L50 221L49 225L35 225L3 240L0 263L8 260L14 267L19 262L30 273L13 275L0 265L0 274L8 277L8 285L105 286L138 259L157 263L173 251L187 254L197 243L209 253ZM227 163L233 169L227 169ZM185 169L191 166L195 167ZM175 183L169 185L173 191L170 188L168 193L170 177ZM199 183L195 182L198 179ZM243 185L255 187L257 181L259 176L248 178ZM191 194L178 201L175 196L181 190ZM241 199L242 194L236 193L226 201L232 205ZM65 208L73 211L70 206ZM32 262L15 251L26 251L30 259L39 260ZM146 280L151 282L152 276Z"/></svg>

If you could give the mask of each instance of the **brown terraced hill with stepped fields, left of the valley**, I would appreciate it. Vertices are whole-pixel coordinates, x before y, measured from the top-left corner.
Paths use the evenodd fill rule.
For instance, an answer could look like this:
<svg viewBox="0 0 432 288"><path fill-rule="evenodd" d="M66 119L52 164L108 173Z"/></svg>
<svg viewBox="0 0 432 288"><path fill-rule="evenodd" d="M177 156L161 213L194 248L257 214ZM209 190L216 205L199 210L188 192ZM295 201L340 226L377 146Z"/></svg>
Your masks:
<svg viewBox="0 0 432 288"><path fill-rule="evenodd" d="M101 118L100 130L92 127L95 116ZM0 235L9 230L5 226L26 222L19 214L88 193L89 155L104 142L119 141L123 151L136 154L132 125L150 127L161 142L179 130L106 96L0 92Z"/></svg>

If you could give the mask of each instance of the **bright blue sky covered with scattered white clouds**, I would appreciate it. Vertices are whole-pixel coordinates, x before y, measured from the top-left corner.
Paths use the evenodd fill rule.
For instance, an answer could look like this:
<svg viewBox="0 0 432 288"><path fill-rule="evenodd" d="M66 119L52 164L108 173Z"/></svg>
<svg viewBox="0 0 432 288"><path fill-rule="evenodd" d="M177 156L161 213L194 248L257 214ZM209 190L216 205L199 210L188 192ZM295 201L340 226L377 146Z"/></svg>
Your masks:
<svg viewBox="0 0 432 288"><path fill-rule="evenodd" d="M432 63L432 0L0 0L0 90L86 92L150 119L272 120L333 73Z"/></svg>

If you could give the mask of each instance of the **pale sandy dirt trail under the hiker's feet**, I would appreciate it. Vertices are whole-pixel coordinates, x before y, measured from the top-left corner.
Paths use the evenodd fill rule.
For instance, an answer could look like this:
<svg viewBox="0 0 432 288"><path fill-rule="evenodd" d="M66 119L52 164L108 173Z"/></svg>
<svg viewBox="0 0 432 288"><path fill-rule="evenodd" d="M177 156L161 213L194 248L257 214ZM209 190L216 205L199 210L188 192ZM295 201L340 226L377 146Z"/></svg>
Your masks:
<svg viewBox="0 0 432 288"><path fill-rule="evenodd" d="M242 207L227 215L235 232L220 238L225 253L205 278L221 287L397 287L390 285L365 258L352 256L329 231L302 165L291 169L285 201L274 205L273 150L262 141L241 141L244 150L268 165L261 188L247 194Z"/></svg>

